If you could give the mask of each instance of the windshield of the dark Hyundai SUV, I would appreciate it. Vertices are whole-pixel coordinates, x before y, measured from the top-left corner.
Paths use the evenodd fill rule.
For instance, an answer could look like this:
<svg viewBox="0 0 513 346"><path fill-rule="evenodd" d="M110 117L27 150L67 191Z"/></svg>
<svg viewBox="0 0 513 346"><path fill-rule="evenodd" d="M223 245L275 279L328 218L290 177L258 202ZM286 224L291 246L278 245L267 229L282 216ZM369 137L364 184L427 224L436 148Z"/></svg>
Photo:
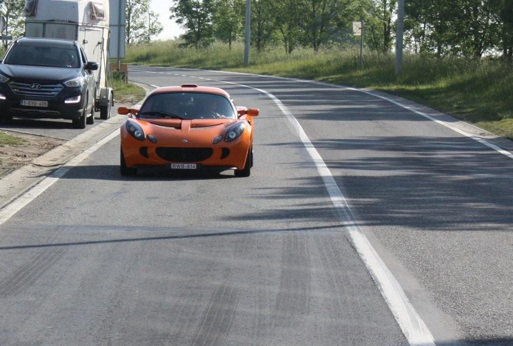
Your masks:
<svg viewBox="0 0 513 346"><path fill-rule="evenodd" d="M80 67L78 51L73 46L48 47L17 44L9 51L5 63L24 66Z"/></svg>

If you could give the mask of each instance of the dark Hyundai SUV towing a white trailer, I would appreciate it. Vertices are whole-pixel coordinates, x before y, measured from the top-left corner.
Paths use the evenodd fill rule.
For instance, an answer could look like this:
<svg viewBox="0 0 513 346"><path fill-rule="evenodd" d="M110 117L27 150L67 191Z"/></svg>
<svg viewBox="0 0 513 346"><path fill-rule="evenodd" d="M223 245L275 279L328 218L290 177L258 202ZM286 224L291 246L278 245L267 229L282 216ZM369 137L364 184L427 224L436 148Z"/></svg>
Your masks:
<svg viewBox="0 0 513 346"><path fill-rule="evenodd" d="M0 64L0 122L15 116L93 124L97 69L74 41L14 41Z"/></svg>

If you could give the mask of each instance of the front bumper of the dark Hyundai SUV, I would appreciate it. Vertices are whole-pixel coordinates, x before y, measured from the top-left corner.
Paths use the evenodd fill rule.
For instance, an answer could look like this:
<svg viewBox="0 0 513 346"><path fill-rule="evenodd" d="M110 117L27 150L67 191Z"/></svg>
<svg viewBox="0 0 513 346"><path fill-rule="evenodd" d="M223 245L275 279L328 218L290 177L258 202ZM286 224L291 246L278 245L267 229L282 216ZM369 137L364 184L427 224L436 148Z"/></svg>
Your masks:
<svg viewBox="0 0 513 346"><path fill-rule="evenodd" d="M14 93L6 84L0 84L0 93L5 100L0 100L0 117L49 118L49 119L78 119L85 107L84 97L75 104L65 104L64 101L83 95L81 88L64 88L55 97L26 96ZM47 101L48 107L22 106L22 100Z"/></svg>

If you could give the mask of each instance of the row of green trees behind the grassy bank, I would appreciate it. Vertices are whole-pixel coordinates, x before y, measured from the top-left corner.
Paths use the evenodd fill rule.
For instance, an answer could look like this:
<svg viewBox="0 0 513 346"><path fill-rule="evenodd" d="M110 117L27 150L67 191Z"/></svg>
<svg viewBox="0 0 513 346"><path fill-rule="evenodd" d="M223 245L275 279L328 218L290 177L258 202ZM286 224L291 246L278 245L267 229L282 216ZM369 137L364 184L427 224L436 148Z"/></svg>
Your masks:
<svg viewBox="0 0 513 346"><path fill-rule="evenodd" d="M171 18L184 29L183 46L242 41L246 0L172 0ZM389 52L397 0L251 0L251 44L318 51L356 43L353 21L363 20L365 46ZM406 0L405 47L437 56L513 56L513 0Z"/></svg>

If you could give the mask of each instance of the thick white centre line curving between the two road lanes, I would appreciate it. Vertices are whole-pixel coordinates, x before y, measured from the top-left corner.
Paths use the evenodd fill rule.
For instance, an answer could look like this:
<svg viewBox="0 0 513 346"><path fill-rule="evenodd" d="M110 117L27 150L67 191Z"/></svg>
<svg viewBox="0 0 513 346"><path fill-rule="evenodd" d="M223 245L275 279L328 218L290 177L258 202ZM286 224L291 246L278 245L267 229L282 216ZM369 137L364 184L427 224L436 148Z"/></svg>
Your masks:
<svg viewBox="0 0 513 346"><path fill-rule="evenodd" d="M292 123L296 133L300 137L303 145L308 151L315 167L317 167L317 171L319 175L322 177L324 185L328 190L329 197L331 202L333 203L334 208L337 210L337 214L339 215L342 224L348 230L349 238L351 242L360 255L363 263L367 267L367 270L371 274L374 282L378 286L383 298L385 299L390 311L393 316L396 318L401 330L403 331L404 336L408 340L411 346L435 346L435 340L431 335L431 332L428 330L426 324L419 316L415 308L406 297L403 289L399 282L394 278L386 264L380 258L374 247L370 244L369 240L363 233L363 230L358 225L356 218L351 212L351 208L349 207L342 191L340 190L337 182L331 175L329 168L324 163L321 155L315 149L312 142L306 136L303 127L298 122L297 119L290 113L290 111L285 107L285 105L273 94L263 89L255 88L249 85L227 82L227 81L219 81L214 79L207 79L214 82L226 83L231 85L238 85L244 88L249 88L253 90L257 90L269 97L274 103L281 109L281 111L285 114L287 119Z"/></svg>

